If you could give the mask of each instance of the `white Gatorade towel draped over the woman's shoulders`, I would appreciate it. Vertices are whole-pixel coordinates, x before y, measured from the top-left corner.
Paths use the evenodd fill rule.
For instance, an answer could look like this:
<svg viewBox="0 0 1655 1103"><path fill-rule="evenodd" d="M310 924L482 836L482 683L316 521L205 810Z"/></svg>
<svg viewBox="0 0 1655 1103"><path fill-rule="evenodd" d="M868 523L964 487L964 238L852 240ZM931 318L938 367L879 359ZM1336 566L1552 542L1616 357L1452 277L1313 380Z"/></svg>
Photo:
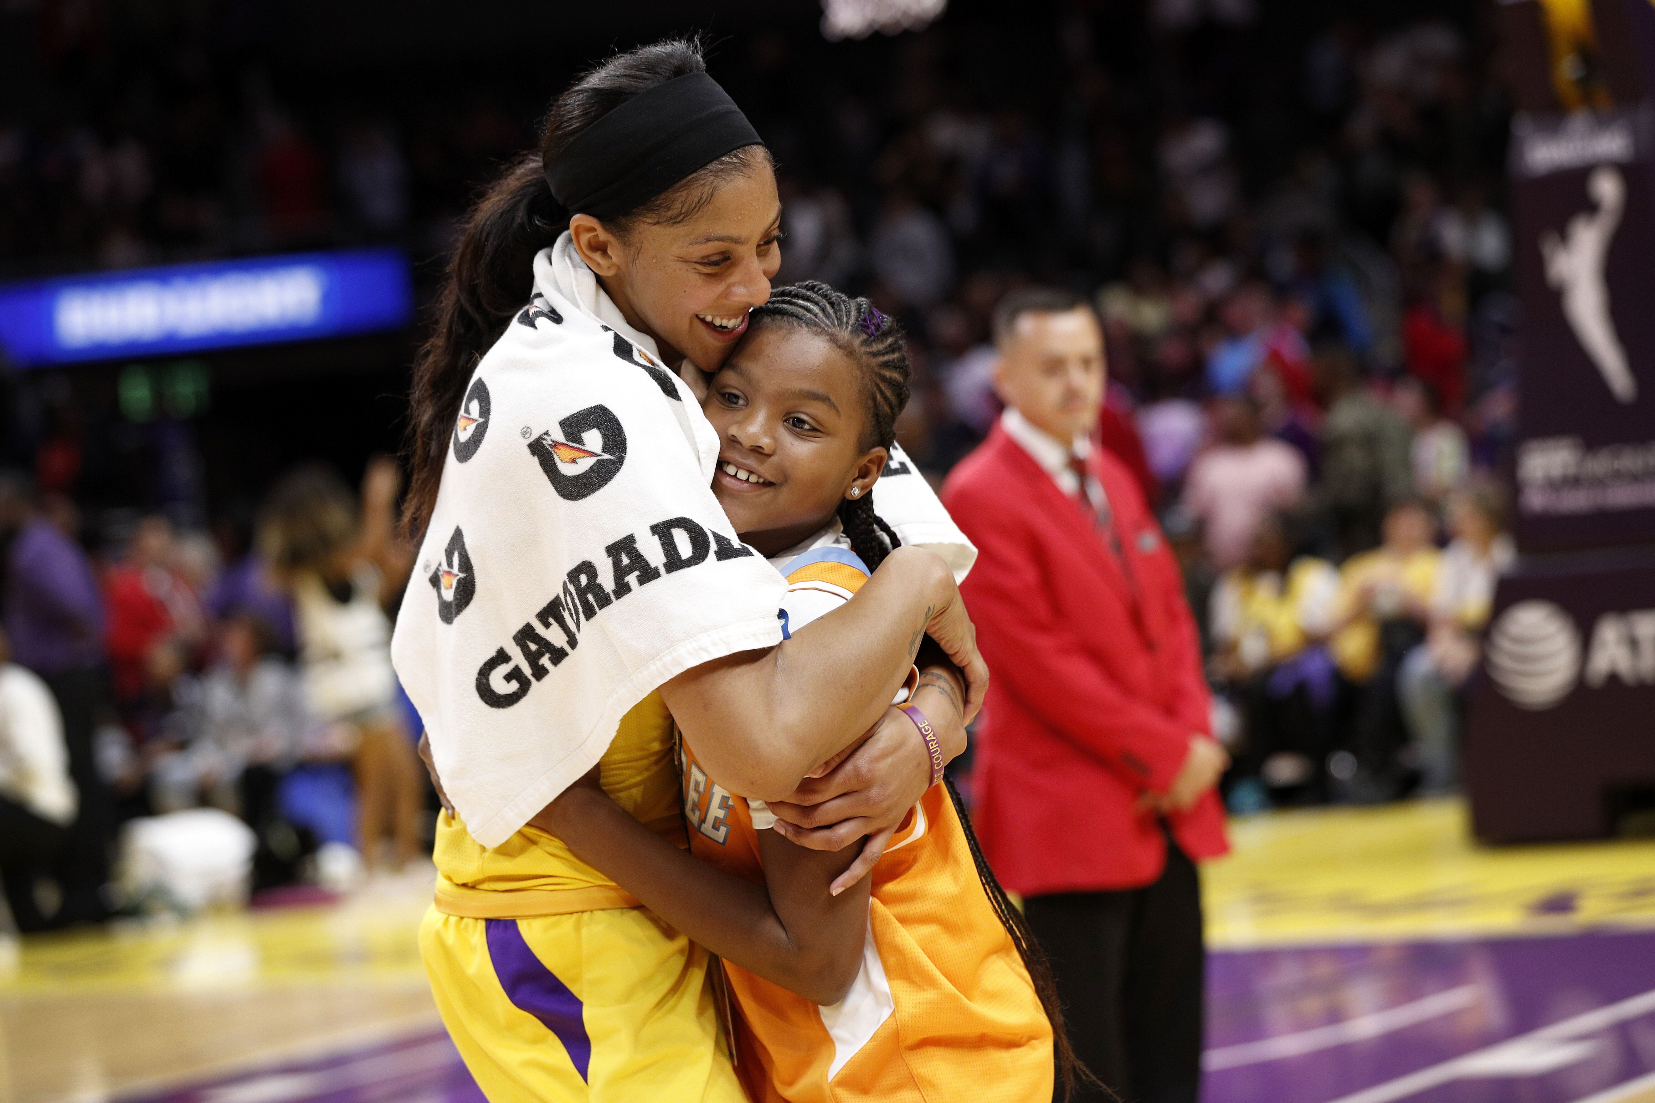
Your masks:
<svg viewBox="0 0 1655 1103"><path fill-rule="evenodd" d="M533 298L472 375L391 642L482 845L589 771L657 686L781 642L786 580L736 539L717 461L693 389L569 235L541 250ZM963 577L976 551L900 451L875 501Z"/></svg>

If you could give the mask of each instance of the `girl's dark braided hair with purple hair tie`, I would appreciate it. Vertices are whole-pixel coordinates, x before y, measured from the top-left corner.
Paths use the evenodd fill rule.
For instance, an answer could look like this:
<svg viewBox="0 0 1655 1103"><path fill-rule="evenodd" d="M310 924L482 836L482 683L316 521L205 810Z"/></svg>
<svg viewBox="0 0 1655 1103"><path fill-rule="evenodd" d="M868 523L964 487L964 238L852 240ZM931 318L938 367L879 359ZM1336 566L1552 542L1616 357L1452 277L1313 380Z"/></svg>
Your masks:
<svg viewBox="0 0 1655 1103"><path fill-rule="evenodd" d="M784 322L831 341L862 370L867 428L861 448L890 448L897 443L897 415L909 403L909 351L902 326L867 299L852 299L814 279L776 288L770 301L755 306L753 326ZM874 513L874 493L839 503L839 523L869 571L902 546L897 534Z"/></svg>

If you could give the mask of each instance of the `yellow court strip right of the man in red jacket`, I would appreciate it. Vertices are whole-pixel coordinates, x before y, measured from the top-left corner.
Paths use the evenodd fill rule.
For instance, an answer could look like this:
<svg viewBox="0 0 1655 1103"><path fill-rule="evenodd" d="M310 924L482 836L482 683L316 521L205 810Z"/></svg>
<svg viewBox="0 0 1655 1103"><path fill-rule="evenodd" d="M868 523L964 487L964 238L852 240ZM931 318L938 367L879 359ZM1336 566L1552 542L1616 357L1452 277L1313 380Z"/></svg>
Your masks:
<svg viewBox="0 0 1655 1103"><path fill-rule="evenodd" d="M1230 842L1202 871L1218 949L1655 926L1655 842L1483 847L1460 800L1246 817Z"/></svg>

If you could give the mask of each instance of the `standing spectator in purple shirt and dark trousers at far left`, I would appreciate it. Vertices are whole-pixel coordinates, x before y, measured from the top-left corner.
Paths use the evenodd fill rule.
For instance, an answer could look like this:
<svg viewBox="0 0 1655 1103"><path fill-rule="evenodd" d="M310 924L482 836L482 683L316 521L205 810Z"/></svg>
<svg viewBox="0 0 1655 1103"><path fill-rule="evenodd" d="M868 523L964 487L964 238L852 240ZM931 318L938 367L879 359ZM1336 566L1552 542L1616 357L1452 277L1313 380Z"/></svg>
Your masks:
<svg viewBox="0 0 1655 1103"><path fill-rule="evenodd" d="M114 838L114 812L93 756L93 731L108 701L103 599L86 552L36 513L26 480L12 473L0 473L0 547L12 658L51 690L79 794L53 868L63 896L53 923L98 921L108 914L103 886Z"/></svg>

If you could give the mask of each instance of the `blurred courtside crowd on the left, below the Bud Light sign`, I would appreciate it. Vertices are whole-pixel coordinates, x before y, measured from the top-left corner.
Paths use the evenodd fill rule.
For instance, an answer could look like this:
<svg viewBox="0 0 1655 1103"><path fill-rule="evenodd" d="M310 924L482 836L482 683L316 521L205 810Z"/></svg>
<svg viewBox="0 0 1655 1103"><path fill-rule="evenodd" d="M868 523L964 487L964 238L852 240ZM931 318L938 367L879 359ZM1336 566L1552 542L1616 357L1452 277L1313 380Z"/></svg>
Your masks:
<svg viewBox="0 0 1655 1103"><path fill-rule="evenodd" d="M146 514L89 556L73 504L0 475L0 883L18 929L346 890L417 858L427 782L387 615L412 564L397 493L391 460L359 496L305 466L250 532ZM218 815L175 819L197 809Z"/></svg>

